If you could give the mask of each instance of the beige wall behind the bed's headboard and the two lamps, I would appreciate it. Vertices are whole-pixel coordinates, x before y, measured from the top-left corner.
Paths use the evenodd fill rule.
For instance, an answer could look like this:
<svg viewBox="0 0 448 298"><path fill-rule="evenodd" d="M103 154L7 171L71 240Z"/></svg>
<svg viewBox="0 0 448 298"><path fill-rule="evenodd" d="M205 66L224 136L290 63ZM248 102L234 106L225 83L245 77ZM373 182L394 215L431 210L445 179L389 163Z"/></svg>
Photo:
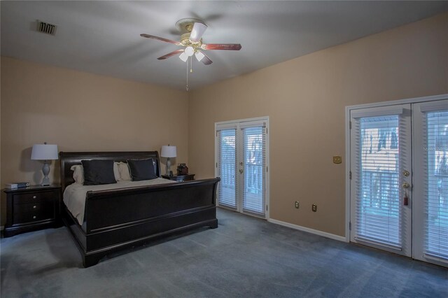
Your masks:
<svg viewBox="0 0 448 298"><path fill-rule="evenodd" d="M187 112L187 92L1 57L1 187L41 183L43 163L30 157L44 141L59 151L160 152L171 143L172 164L188 162ZM50 180L59 181L57 161ZM1 207L3 225L4 199Z"/></svg>

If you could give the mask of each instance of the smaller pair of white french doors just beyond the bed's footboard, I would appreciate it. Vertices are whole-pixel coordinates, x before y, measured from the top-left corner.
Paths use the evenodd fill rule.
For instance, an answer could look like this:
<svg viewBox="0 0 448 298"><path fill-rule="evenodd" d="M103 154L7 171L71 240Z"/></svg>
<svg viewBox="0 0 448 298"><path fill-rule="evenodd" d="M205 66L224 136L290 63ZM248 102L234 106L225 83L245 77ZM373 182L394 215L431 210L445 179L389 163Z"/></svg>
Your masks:
<svg viewBox="0 0 448 298"><path fill-rule="evenodd" d="M267 118L216 123L218 206L267 217Z"/></svg>

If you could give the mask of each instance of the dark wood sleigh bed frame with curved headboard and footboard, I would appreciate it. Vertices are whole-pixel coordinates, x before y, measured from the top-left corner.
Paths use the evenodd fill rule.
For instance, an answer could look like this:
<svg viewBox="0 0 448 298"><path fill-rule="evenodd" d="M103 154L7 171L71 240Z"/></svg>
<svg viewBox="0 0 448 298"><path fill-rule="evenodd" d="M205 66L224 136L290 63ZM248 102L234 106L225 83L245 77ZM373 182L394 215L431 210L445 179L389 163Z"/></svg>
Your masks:
<svg viewBox="0 0 448 298"><path fill-rule="evenodd" d="M74 183L71 166L81 160L149 159L160 177L157 151L59 152L62 193ZM216 187L219 178L162 185L88 191L82 223L62 203L62 220L83 257L83 266L97 264L106 255L164 236L199 227L218 227Z"/></svg>

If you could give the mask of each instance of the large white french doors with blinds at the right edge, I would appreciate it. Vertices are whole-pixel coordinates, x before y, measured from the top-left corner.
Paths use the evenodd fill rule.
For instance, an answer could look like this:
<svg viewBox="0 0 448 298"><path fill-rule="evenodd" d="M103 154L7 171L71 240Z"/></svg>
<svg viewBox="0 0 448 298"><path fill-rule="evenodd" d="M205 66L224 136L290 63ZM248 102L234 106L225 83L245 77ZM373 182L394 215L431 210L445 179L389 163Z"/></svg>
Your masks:
<svg viewBox="0 0 448 298"><path fill-rule="evenodd" d="M448 266L448 100L350 121L350 240Z"/></svg>

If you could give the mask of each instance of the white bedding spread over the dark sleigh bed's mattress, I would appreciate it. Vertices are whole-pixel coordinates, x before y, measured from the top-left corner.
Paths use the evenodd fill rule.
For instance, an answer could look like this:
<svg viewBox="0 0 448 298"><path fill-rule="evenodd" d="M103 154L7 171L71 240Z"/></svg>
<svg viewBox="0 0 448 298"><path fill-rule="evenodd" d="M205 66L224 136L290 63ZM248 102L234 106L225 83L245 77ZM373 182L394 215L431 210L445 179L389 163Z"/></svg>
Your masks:
<svg viewBox="0 0 448 298"><path fill-rule="evenodd" d="M82 185L80 183L73 183L67 186L64 190L64 203L69 209L71 214L78 220L80 225L83 225L84 221L84 208L85 208L85 194L89 190L116 190L118 188L126 187L138 187L157 184L176 183L176 181L168 180L164 178L155 178L153 180L142 181L118 181L116 184L104 184L104 185Z"/></svg>

